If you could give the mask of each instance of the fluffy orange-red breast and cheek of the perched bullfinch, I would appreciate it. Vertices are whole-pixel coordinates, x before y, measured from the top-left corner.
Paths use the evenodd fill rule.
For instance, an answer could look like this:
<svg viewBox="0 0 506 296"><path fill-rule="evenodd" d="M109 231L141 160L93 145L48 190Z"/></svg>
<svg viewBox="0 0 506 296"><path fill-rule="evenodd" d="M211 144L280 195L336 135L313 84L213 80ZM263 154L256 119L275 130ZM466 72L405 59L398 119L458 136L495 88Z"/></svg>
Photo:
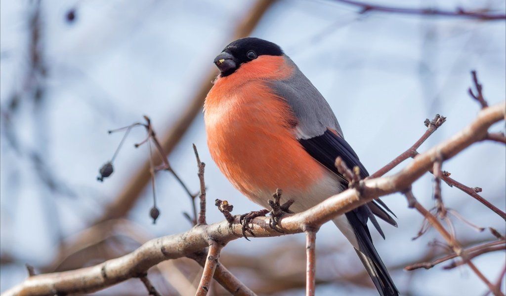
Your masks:
<svg viewBox="0 0 506 296"><path fill-rule="evenodd" d="M211 156L233 185L254 201L269 198L261 195L276 188L303 192L325 172L292 134L290 122L296 119L289 106L265 80L249 76L253 69L247 71L246 66L271 67L261 73L275 77L290 74L281 72L281 57L273 57L281 61L261 58L267 65L250 62L219 78L206 97L204 111Z"/></svg>

